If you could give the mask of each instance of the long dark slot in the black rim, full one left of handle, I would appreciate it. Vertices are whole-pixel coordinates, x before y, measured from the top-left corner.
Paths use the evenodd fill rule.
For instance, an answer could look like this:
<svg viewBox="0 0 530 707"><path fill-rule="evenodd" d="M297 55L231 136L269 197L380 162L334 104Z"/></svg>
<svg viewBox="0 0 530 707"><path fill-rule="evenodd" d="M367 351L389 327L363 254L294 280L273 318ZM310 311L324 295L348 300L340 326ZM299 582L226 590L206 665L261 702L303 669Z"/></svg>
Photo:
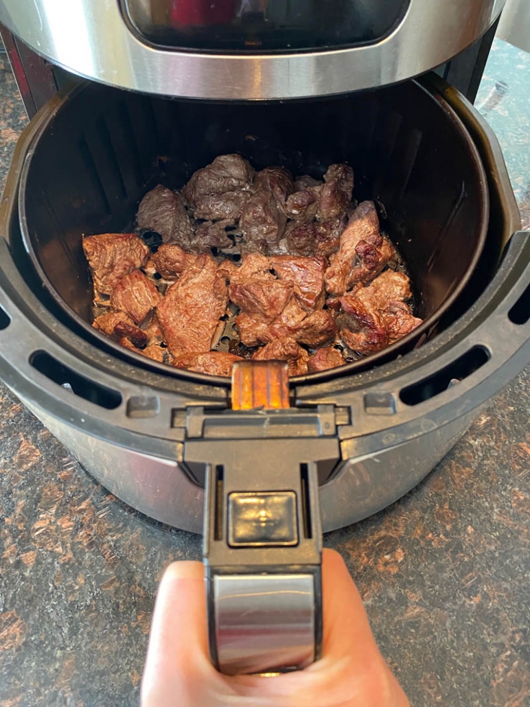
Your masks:
<svg viewBox="0 0 530 707"><path fill-rule="evenodd" d="M53 380L54 383L107 410L114 410L122 402L122 395L117 390L112 390L79 375L71 368L64 366L64 363L57 361L57 358L47 354L46 351L37 351L33 354L30 364L46 378Z"/></svg>

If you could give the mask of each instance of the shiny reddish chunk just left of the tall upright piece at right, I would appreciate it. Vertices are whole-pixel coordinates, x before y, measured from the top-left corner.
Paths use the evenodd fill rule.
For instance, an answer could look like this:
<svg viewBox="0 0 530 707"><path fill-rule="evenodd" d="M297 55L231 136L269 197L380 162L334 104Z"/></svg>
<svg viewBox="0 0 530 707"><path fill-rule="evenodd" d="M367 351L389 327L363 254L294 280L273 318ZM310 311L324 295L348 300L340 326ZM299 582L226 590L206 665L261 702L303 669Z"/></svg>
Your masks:
<svg viewBox="0 0 530 707"><path fill-rule="evenodd" d="M295 297L307 312L324 305L324 273L327 268L324 257L277 255L271 257L271 265L279 279L293 282Z"/></svg>

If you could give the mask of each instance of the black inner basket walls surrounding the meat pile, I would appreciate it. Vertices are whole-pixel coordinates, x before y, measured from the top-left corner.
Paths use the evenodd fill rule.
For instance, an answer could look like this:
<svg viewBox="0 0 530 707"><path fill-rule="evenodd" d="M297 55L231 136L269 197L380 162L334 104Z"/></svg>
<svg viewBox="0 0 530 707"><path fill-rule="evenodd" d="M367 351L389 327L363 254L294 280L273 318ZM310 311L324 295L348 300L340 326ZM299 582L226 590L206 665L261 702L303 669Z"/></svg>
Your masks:
<svg viewBox="0 0 530 707"><path fill-rule="evenodd" d="M330 163L353 166L354 194L379 203L382 226L411 269L416 314L425 322L379 354L341 368L341 375L423 341L469 280L488 228L476 147L449 105L416 82L312 103L244 105L87 84L42 124L34 145L20 185L20 225L49 292L100 346L192 380L226 383L161 366L90 327L93 293L81 237L131 228L139 200L158 182L182 187L194 170L230 152L258 169L281 164L315 177Z"/></svg>

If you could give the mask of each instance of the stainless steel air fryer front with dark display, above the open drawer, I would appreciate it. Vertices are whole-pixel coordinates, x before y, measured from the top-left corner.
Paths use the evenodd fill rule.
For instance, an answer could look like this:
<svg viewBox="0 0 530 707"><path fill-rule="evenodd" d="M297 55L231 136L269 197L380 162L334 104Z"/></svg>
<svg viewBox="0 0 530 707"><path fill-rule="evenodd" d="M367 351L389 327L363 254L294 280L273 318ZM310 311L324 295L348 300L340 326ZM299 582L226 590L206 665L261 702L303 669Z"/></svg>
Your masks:
<svg viewBox="0 0 530 707"><path fill-rule="evenodd" d="M145 93L284 99L385 86L459 54L505 0L1 0L75 74Z"/></svg>

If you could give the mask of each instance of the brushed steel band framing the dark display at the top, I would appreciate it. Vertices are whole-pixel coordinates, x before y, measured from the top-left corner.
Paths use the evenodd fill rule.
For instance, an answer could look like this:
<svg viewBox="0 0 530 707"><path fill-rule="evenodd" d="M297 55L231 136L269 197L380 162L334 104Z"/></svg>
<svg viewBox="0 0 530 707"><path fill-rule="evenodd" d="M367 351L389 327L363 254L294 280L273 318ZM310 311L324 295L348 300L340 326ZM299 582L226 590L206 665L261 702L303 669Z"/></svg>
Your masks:
<svg viewBox="0 0 530 707"><path fill-rule="evenodd" d="M422 74L480 37L503 0L411 0L381 42L292 54L201 54L150 47L117 1L0 0L0 22L52 62L88 78L189 98L273 99L331 95Z"/></svg>

